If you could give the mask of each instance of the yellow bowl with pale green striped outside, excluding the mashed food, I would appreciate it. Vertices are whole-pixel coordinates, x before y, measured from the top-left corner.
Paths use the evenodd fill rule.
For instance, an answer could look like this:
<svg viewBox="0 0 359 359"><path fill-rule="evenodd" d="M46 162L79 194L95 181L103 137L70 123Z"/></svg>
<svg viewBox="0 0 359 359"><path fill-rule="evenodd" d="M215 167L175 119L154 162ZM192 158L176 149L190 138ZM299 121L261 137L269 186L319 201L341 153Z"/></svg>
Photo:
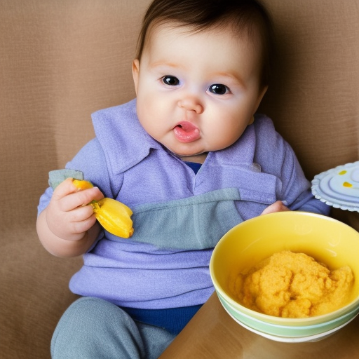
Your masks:
<svg viewBox="0 0 359 359"><path fill-rule="evenodd" d="M275 252L303 252L330 269L350 266L355 277L348 304L323 316L279 318L242 306L229 290L233 275ZM359 233L309 212L277 212L245 221L226 233L212 253L210 275L224 309L238 323L279 341L311 341L331 334L359 313Z"/></svg>

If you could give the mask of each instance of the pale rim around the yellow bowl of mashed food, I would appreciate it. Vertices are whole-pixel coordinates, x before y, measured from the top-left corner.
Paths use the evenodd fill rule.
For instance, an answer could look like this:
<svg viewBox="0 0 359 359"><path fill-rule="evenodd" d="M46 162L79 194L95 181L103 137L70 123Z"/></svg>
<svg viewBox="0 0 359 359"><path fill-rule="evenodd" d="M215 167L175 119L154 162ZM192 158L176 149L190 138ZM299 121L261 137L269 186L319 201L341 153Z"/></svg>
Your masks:
<svg viewBox="0 0 359 359"><path fill-rule="evenodd" d="M346 229L348 229L349 231L353 231L353 233L355 233L355 235L358 236L358 238L359 238L358 231L355 231L355 229L353 229L353 227L349 226L348 224L346 224L344 222L339 221L338 219L334 219L332 217L327 217L325 215L320 215L318 213L304 212L304 211L286 211L286 212L269 213L265 216L281 217L281 216L293 216L293 215L295 215L295 216L299 215L299 216L304 216L304 217L318 217L319 219L323 219L325 221L337 222L341 226L345 226ZM252 309L247 308L246 306L243 306L242 304L236 302L234 299L229 297L229 294L226 293L226 291L224 290L222 285L220 285L218 283L217 279L215 278L215 269L214 269L215 253L218 250L217 248L219 248L219 246L221 245L220 243L223 243L225 241L225 238L227 236L229 236L229 234L232 231L236 231L238 226L241 226L242 224L246 224L248 222L254 222L254 221L258 220L258 218L259 217L253 217L253 218L247 219L247 220L237 224L229 231L227 231L224 234L224 236L222 236L222 238L219 239L219 241L218 241L217 245L215 246L215 248L213 249L212 255L210 257L210 266L209 266L210 267L210 277L212 279L212 283L215 287L215 290L217 292L219 292L220 295L222 297L224 297L224 299L227 302L229 302L233 308L238 307L238 309L241 311L241 313L246 314L249 318L256 318L257 320L262 320L266 323L274 324L273 321L276 321L277 325L279 325L279 326L283 326L285 324L290 324L290 327L292 327L293 325L302 327L304 325L311 326L311 323L313 323L313 322L315 322L315 323L313 323L313 325L316 323L318 324L318 322L324 323L323 320L325 320L325 319L334 320L334 319L340 318L341 316L345 316L346 314L351 312L355 307L359 306L359 294L358 294L357 297L355 297L351 302L349 302L345 306L342 306L341 308L339 308L335 311L331 311L330 313L325 313L320 316L311 316L308 318L283 318L283 317L270 316L268 314L264 314L259 311L254 311ZM356 278L355 278L355 280L356 280ZM338 316L338 314L339 314L339 316ZM327 323L327 320L325 320L325 323Z"/></svg>

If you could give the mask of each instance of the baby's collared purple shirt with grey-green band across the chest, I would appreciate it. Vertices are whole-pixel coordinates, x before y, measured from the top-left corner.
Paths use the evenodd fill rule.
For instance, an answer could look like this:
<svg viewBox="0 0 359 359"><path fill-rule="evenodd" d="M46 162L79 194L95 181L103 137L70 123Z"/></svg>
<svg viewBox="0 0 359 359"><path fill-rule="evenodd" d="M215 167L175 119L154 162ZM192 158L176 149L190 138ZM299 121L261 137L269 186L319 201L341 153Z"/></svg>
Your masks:
<svg viewBox="0 0 359 359"><path fill-rule="evenodd" d="M214 290L212 249L226 231L277 200L329 212L266 116L255 116L231 147L210 152L196 175L144 131L135 104L93 114L95 139L67 164L126 203L135 228L129 239L102 231L70 281L76 294L140 309L203 304ZM51 195L41 196L39 212Z"/></svg>

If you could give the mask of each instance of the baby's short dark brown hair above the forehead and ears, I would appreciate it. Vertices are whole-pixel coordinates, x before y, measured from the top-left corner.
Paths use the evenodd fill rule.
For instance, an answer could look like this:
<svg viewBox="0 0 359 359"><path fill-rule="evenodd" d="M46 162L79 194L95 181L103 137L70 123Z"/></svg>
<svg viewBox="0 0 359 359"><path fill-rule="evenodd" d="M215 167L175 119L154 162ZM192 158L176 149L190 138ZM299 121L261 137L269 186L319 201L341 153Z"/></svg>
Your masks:
<svg viewBox="0 0 359 359"><path fill-rule="evenodd" d="M269 83L273 64L274 36L271 17L257 0L154 0L147 8L137 43L141 60L151 28L156 25L188 27L190 32L226 29L233 34L246 34L262 46L262 85Z"/></svg>

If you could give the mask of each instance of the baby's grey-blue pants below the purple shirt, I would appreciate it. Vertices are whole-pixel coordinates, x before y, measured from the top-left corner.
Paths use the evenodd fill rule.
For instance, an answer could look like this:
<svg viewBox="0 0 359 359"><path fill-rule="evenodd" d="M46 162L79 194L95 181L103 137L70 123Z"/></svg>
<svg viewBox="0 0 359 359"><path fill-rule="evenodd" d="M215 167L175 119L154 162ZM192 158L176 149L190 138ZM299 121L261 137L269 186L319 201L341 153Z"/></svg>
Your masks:
<svg viewBox="0 0 359 359"><path fill-rule="evenodd" d="M175 338L167 330L138 323L118 306L83 297L57 324L53 359L156 359Z"/></svg>

